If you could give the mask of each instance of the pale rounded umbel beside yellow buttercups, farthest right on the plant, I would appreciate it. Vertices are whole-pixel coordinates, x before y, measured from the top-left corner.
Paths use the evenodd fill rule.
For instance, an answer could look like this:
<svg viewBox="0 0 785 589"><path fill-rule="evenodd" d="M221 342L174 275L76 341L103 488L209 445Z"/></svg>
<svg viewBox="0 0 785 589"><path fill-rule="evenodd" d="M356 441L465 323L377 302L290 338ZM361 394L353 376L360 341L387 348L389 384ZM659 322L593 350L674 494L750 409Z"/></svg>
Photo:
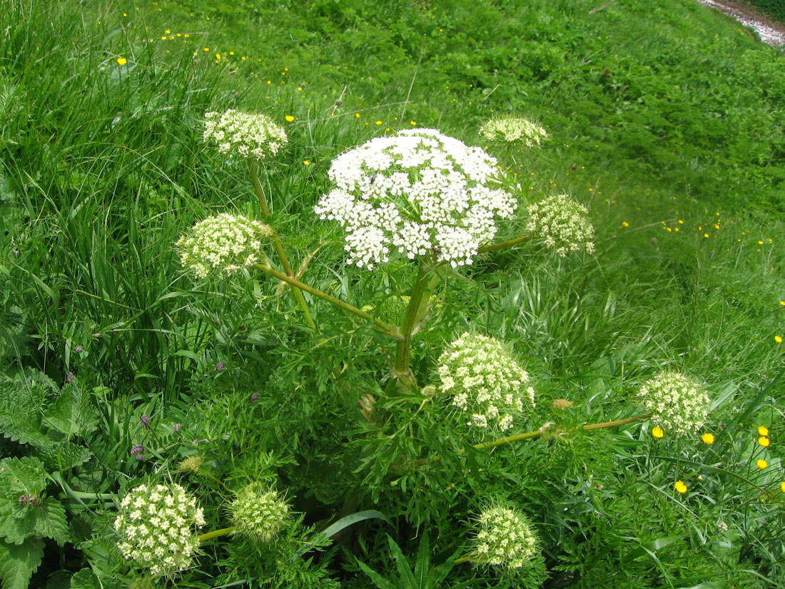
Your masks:
<svg viewBox="0 0 785 589"><path fill-rule="evenodd" d="M706 422L709 396L703 387L678 372L662 371L637 393L652 424L681 437L693 434Z"/></svg>

